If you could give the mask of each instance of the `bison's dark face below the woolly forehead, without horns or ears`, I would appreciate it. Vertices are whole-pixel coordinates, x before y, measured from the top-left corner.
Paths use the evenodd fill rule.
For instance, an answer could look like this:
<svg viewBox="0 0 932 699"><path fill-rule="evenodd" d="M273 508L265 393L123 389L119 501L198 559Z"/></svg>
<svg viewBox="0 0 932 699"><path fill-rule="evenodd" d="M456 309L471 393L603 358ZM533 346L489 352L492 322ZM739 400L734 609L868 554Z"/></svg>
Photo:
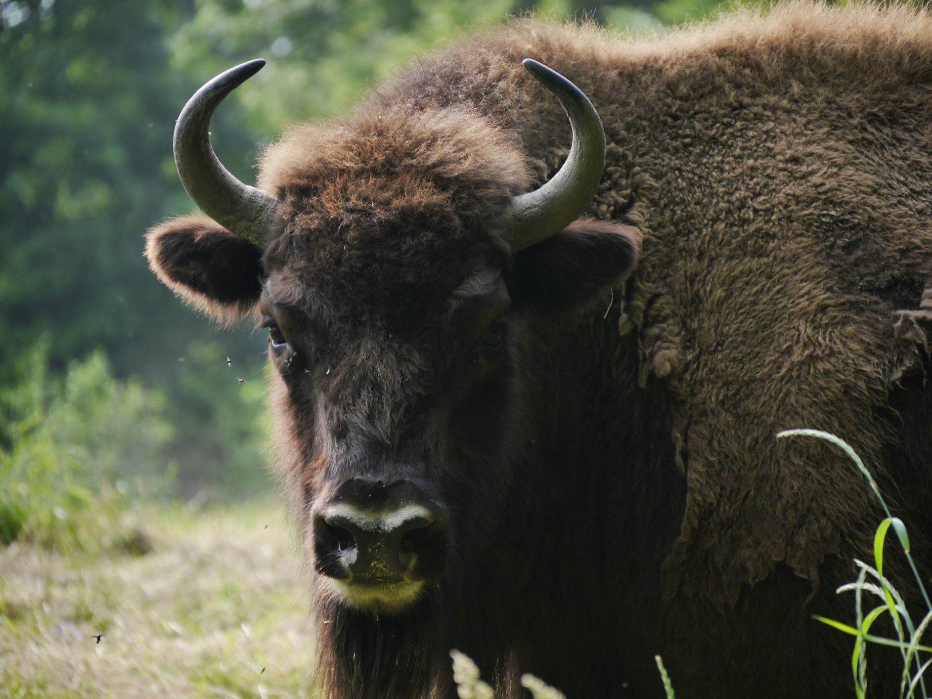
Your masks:
<svg viewBox="0 0 932 699"><path fill-rule="evenodd" d="M432 303L354 295L361 306L304 280L312 310L281 302L288 272L262 296L281 474L322 596L402 610L441 580L461 532L475 541L500 509L487 491L504 491L514 448L519 323L499 269Z"/></svg>

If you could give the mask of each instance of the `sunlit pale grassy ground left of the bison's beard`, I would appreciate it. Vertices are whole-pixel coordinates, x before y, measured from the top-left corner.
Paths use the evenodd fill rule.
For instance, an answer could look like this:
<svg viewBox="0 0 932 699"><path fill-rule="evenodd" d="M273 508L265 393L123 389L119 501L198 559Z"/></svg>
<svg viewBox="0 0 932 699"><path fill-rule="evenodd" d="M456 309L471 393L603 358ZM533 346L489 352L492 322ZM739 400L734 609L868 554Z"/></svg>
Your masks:
<svg viewBox="0 0 932 699"><path fill-rule="evenodd" d="M307 595L281 509L140 521L142 555L0 548L0 696L307 697Z"/></svg>

